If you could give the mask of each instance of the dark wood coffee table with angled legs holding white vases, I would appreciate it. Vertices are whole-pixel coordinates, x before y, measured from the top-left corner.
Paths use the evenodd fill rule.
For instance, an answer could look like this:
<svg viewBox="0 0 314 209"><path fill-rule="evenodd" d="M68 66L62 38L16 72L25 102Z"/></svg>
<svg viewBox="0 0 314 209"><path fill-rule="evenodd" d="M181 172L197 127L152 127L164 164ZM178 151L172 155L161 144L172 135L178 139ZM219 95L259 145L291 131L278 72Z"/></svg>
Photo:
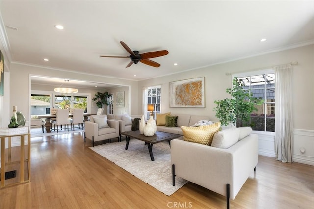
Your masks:
<svg viewBox="0 0 314 209"><path fill-rule="evenodd" d="M170 146L171 139L179 138L180 135L173 134L173 133L165 133L165 132L159 132L156 131L156 133L153 136L144 136L139 131L126 131L121 133L122 135L126 136L127 144L126 144L126 150L129 147L130 138L135 138L141 141L144 141L145 144L147 144L149 155L151 156L151 160L154 161L153 156L153 144L157 144L159 142L168 141Z"/></svg>

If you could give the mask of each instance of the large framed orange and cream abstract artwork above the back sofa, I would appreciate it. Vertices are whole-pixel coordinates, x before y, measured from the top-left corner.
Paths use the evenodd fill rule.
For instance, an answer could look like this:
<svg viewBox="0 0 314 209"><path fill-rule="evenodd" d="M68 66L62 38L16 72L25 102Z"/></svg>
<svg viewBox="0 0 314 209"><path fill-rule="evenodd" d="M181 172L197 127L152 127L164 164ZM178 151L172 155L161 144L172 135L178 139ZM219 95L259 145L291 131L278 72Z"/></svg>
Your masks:
<svg viewBox="0 0 314 209"><path fill-rule="evenodd" d="M169 107L205 108L205 77L169 82Z"/></svg>

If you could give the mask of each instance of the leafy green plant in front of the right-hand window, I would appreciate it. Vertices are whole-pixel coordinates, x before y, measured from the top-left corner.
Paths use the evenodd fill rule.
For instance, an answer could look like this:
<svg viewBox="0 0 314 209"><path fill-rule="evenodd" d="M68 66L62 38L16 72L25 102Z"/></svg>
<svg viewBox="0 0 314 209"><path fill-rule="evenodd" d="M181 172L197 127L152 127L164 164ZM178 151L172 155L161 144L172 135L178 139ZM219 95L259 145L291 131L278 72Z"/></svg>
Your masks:
<svg viewBox="0 0 314 209"><path fill-rule="evenodd" d="M243 89L243 86L245 86L244 81L235 77L232 81L232 88L226 89L231 98L214 101L217 104L214 111L221 125L227 126L232 123L234 126L236 124L236 127L249 126L250 115L257 110L255 105L262 104L262 99L253 97L253 93Z"/></svg>

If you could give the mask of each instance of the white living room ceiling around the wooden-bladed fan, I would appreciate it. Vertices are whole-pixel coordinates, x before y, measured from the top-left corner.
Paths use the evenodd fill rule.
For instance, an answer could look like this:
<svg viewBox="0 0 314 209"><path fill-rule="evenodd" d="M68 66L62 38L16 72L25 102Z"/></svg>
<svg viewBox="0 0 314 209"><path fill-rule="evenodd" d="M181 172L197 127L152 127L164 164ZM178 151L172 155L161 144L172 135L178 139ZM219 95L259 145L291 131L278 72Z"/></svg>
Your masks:
<svg viewBox="0 0 314 209"><path fill-rule="evenodd" d="M0 9L12 62L131 80L314 43L313 0L1 0ZM128 56L120 41L169 54L152 59L159 68L99 57Z"/></svg>

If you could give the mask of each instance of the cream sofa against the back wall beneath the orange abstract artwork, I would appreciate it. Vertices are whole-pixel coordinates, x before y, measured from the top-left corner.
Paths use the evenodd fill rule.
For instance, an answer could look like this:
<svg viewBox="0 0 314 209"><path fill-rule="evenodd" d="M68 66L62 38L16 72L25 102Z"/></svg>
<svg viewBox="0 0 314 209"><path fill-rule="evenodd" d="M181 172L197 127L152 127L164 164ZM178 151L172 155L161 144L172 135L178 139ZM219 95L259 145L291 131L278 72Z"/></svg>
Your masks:
<svg viewBox="0 0 314 209"><path fill-rule="evenodd" d="M200 120L209 120L208 116L200 115L188 115L188 114L171 114L171 116L178 116L177 127L167 127L165 125L158 125L158 116L157 116L157 131L174 133L183 136L183 132L180 126L192 126Z"/></svg>

